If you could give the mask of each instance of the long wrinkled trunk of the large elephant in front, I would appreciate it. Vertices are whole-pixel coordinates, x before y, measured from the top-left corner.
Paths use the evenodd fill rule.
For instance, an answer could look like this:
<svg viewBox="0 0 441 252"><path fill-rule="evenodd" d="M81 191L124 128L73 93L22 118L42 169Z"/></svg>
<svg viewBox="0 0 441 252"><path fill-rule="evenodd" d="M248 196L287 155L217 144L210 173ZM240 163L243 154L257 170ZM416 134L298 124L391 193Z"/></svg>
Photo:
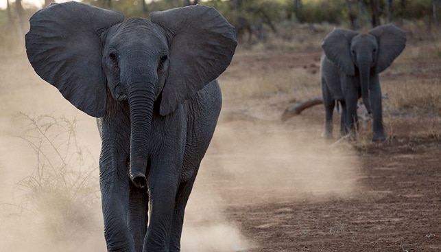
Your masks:
<svg viewBox="0 0 441 252"><path fill-rule="evenodd" d="M130 179L136 187L147 185L148 141L152 125L154 85L134 82L128 89L130 106Z"/></svg>

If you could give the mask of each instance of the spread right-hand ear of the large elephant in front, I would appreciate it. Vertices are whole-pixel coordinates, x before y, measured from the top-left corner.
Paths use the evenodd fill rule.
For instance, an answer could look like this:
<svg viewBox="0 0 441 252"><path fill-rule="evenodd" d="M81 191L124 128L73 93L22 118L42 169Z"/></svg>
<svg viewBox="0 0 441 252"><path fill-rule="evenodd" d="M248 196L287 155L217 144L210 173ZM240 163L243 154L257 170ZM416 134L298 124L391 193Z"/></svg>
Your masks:
<svg viewBox="0 0 441 252"><path fill-rule="evenodd" d="M235 28L204 5L152 12L150 18L163 27L169 41L169 73L160 103L160 115L168 115L230 65L237 45Z"/></svg>

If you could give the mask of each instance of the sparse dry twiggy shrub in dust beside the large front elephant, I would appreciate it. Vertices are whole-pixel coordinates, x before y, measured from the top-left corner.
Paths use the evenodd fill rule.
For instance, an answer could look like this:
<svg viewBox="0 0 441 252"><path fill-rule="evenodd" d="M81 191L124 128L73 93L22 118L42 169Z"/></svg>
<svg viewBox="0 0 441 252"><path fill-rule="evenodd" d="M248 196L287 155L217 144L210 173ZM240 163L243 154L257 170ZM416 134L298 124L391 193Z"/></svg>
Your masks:
<svg viewBox="0 0 441 252"><path fill-rule="evenodd" d="M23 115L29 122L19 138L36 156L34 172L16 187L25 214L36 217L39 230L54 241L91 231L99 211L97 165L78 145L75 119Z"/></svg>

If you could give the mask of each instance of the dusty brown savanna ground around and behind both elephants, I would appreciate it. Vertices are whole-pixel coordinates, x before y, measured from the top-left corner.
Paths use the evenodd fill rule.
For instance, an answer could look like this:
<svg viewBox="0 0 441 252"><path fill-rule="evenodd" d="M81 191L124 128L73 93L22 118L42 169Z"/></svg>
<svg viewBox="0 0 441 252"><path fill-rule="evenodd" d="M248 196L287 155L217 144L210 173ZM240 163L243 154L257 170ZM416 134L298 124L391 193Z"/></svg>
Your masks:
<svg viewBox="0 0 441 252"><path fill-rule="evenodd" d="M337 142L338 115L335 139L321 139L321 105L281 122L289 104L320 95L331 26L239 46L219 78L224 106L182 251L441 251L441 36L403 28L407 47L380 77L382 143L369 123ZM105 251L94 119L23 51L3 51L0 69L0 251Z"/></svg>

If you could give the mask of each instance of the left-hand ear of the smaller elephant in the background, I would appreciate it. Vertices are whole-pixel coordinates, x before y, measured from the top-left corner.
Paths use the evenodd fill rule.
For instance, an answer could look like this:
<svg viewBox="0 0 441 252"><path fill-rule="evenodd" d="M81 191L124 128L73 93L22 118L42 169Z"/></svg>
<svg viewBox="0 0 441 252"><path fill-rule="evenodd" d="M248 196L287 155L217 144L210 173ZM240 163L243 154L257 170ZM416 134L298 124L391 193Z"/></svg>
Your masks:
<svg viewBox="0 0 441 252"><path fill-rule="evenodd" d="M322 48L326 58L329 58L346 74L355 75L353 58L350 56L350 43L358 32L334 28L323 40Z"/></svg>

